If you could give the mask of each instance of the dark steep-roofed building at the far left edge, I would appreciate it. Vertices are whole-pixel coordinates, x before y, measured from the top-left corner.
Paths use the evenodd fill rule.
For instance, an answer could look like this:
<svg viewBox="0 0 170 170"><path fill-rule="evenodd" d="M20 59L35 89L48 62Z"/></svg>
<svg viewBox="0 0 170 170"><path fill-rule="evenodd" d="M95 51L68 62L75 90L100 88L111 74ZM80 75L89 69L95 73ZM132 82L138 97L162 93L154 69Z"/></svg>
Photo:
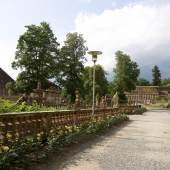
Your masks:
<svg viewBox="0 0 170 170"><path fill-rule="evenodd" d="M0 68L0 96L6 96L8 94L7 90L5 89L5 85L12 81L14 80Z"/></svg>

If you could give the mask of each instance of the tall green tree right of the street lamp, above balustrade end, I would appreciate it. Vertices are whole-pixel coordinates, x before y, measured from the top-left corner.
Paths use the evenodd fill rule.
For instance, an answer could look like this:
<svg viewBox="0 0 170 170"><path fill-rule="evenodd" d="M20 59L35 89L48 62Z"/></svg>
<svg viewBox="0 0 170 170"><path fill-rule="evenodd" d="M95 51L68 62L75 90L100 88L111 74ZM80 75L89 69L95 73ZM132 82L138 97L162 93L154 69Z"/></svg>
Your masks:
<svg viewBox="0 0 170 170"><path fill-rule="evenodd" d="M130 56L122 51L116 53L115 83L116 91L120 103L126 102L125 92L130 92L136 87L137 79L140 73L136 62L132 61Z"/></svg>

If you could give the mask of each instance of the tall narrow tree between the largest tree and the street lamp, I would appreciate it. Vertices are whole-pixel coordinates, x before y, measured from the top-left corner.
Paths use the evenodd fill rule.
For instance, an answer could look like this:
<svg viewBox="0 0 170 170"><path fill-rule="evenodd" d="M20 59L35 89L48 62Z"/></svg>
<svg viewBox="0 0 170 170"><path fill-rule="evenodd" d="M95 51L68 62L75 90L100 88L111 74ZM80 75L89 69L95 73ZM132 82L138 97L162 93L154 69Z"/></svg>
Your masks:
<svg viewBox="0 0 170 170"><path fill-rule="evenodd" d="M83 93L83 81L81 79L84 70L85 54L87 47L83 36L78 33L68 33L64 46L60 51L60 77L57 81L64 87L70 100L75 100L75 91Z"/></svg>

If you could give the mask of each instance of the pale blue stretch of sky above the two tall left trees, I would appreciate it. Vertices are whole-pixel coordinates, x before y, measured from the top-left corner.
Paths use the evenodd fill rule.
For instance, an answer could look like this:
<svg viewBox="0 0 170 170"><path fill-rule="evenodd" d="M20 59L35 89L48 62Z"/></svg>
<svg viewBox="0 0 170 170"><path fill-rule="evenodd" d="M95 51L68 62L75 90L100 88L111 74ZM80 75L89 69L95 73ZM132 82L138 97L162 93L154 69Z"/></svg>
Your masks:
<svg viewBox="0 0 170 170"><path fill-rule="evenodd" d="M123 1L120 1L122 4ZM18 38L24 26L49 22L57 35L74 29L79 12L100 13L112 0L0 0L1 41Z"/></svg>

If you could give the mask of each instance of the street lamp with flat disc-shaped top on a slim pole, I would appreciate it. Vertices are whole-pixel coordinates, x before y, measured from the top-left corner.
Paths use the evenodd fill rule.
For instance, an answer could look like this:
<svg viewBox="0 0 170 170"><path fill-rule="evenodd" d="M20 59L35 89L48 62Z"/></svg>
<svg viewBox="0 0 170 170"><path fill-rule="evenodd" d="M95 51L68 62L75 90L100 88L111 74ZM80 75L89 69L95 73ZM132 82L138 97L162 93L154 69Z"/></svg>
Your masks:
<svg viewBox="0 0 170 170"><path fill-rule="evenodd" d="M88 54L92 56L92 61L94 63L93 67L93 104L92 104L92 116L94 115L94 110L95 110L95 64L97 61L97 55L102 54L101 51L89 51Z"/></svg>

